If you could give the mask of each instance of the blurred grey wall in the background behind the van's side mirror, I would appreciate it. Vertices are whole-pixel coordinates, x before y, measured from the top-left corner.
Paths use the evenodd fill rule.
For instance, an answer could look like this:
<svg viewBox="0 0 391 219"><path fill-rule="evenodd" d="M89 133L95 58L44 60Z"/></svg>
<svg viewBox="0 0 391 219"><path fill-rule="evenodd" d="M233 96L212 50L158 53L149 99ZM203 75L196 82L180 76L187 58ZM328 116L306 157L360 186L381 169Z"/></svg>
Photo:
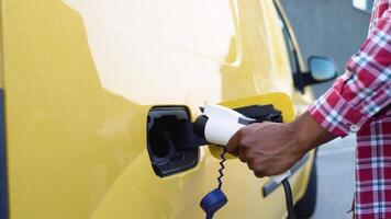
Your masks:
<svg viewBox="0 0 391 219"><path fill-rule="evenodd" d="M353 8L351 0L282 0L304 59L332 58L339 73L368 34L370 14ZM314 85L316 96L332 82Z"/></svg>

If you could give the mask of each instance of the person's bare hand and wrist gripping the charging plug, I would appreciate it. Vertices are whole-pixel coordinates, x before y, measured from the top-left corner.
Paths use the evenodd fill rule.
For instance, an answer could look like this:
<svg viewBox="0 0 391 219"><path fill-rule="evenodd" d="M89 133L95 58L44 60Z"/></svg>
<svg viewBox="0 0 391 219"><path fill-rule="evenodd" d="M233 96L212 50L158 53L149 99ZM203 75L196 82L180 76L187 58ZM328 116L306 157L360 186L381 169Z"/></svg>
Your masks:
<svg viewBox="0 0 391 219"><path fill-rule="evenodd" d="M226 150L262 177L286 172L308 151L334 138L305 113L291 124L248 125L231 138Z"/></svg>

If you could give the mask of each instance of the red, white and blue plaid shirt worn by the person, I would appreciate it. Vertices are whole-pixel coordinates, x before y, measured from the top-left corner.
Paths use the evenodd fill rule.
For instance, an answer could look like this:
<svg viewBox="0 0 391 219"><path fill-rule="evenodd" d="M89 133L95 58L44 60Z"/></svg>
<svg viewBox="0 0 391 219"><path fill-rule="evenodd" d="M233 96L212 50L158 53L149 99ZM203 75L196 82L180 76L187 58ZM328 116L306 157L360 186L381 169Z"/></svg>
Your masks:
<svg viewBox="0 0 391 219"><path fill-rule="evenodd" d="M391 219L391 0L375 0L368 38L309 111L335 136L357 132L356 218Z"/></svg>

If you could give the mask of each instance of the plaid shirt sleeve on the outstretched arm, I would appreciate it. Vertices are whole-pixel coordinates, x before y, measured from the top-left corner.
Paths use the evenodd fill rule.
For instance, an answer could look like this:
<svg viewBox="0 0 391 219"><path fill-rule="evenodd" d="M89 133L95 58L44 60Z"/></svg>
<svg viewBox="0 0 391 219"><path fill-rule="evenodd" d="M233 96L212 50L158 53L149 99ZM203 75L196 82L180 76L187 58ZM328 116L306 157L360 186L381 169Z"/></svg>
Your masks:
<svg viewBox="0 0 391 219"><path fill-rule="evenodd" d="M391 9L370 31L347 71L309 108L313 118L335 136L357 131L391 104Z"/></svg>

